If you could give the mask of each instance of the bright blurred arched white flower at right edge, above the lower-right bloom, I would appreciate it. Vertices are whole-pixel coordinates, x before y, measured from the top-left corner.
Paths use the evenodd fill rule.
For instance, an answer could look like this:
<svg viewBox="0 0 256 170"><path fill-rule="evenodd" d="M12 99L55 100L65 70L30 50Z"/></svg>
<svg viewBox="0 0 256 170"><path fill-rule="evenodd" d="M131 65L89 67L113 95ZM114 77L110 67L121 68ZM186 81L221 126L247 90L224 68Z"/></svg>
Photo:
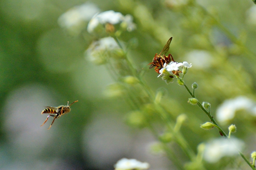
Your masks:
<svg viewBox="0 0 256 170"><path fill-rule="evenodd" d="M216 111L216 118L220 123L226 123L234 118L236 111L245 109L252 114L256 114L256 104L251 99L239 96L235 99L225 100Z"/></svg>

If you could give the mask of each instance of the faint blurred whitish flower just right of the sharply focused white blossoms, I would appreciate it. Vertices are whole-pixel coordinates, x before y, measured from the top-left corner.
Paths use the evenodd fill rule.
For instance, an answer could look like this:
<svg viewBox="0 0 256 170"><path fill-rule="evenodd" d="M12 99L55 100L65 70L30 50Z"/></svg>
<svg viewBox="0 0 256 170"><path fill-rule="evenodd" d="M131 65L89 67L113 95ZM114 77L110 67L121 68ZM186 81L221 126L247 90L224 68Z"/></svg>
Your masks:
<svg viewBox="0 0 256 170"><path fill-rule="evenodd" d="M186 60L191 61L193 66L197 69L204 69L210 67L213 58L208 51L204 50L193 50L186 54Z"/></svg>

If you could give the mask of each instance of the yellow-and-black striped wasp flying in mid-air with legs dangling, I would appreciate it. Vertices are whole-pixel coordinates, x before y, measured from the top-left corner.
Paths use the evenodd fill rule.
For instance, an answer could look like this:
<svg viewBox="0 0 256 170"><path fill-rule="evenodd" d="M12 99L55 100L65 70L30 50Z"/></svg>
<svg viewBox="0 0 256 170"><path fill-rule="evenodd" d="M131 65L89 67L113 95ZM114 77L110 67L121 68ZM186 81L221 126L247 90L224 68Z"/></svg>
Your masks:
<svg viewBox="0 0 256 170"><path fill-rule="evenodd" d="M78 101L78 100L77 100L77 101ZM74 101L73 103L75 103L75 102L77 102L77 101ZM46 120L44 121L44 123L43 123L41 126L43 126L43 125L45 124L45 122L48 120L49 116L54 117L54 119L53 119L53 121L52 121L52 123L51 123L51 125L52 125L53 122L54 122L54 120L55 120L56 118L59 118L61 115L70 112L70 106L71 106L73 103L71 103L71 104L69 105L69 102L68 102L68 104L67 104L66 106L60 105L60 106L58 106L58 107L46 107L46 109L44 109L41 114L48 113L49 115L47 116ZM51 125L50 125L50 127L49 127L48 129L51 128Z"/></svg>

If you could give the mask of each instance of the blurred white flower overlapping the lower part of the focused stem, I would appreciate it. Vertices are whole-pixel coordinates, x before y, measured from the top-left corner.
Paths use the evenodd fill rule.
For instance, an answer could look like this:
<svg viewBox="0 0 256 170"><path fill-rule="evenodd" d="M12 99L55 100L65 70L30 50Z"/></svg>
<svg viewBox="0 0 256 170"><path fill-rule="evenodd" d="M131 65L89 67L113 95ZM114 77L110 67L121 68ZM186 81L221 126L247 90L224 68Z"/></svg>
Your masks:
<svg viewBox="0 0 256 170"><path fill-rule="evenodd" d="M241 150L243 145L243 141L236 138L214 139L206 144L203 158L207 162L215 163L224 156L234 156L238 154L237 150Z"/></svg>

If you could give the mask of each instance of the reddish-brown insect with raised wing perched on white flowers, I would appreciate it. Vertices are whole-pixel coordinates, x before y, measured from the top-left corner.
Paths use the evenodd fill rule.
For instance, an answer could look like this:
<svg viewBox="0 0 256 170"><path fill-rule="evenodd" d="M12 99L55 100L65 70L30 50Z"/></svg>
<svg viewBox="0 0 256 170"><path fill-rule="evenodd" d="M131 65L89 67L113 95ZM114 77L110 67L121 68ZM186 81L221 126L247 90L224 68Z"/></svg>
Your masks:
<svg viewBox="0 0 256 170"><path fill-rule="evenodd" d="M157 55L155 55L155 57L153 58L152 63L149 63L148 65L150 65L150 69L155 67L155 71L156 73L160 74L159 70L162 69L164 67L164 63L168 64L170 63L170 57L172 58L172 61L174 61L172 54L169 54L168 57L165 56L165 54L168 52L169 48L170 48L170 43L172 41L172 37L166 42L166 44L164 45L164 48L162 49L162 51ZM158 68L159 67L159 68Z"/></svg>

